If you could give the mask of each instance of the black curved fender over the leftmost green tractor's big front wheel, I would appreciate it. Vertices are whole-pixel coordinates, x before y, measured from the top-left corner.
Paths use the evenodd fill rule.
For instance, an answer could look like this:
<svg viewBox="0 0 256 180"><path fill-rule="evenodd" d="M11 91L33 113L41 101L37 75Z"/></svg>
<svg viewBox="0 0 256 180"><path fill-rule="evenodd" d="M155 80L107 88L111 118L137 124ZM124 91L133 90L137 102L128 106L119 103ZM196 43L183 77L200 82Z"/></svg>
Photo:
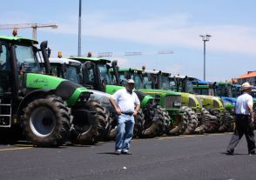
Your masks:
<svg viewBox="0 0 256 180"><path fill-rule="evenodd" d="M21 116L24 112L23 109L30 101L33 99L36 99L37 97L45 97L47 95L55 94L54 90L32 90L28 94L25 95L25 97L22 99L22 101L18 105L17 115Z"/></svg>

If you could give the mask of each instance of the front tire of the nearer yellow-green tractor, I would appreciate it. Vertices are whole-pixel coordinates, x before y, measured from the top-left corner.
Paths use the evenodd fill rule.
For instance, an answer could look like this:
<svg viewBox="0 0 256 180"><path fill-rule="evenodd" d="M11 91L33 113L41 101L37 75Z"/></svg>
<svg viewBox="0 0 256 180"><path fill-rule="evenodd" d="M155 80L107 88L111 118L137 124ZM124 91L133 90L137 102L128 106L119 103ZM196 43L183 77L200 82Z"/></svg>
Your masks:
<svg viewBox="0 0 256 180"><path fill-rule="evenodd" d="M183 132L183 134L188 135L188 134L194 133L194 131L198 126L199 120L194 110L185 106L184 106L184 109L185 109L186 116L188 117L188 122L187 122L187 127Z"/></svg>

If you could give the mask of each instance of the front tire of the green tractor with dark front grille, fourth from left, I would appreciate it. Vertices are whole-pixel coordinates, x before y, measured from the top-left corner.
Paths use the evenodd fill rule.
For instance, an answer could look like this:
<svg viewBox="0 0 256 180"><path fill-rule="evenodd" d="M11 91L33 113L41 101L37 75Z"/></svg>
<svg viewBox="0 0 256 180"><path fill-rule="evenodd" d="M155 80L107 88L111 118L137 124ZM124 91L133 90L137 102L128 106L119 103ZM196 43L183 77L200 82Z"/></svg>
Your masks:
<svg viewBox="0 0 256 180"><path fill-rule="evenodd" d="M172 130L169 130L168 134L172 136L179 136L185 132L188 123L188 117L185 107L181 107L184 110L183 113L178 114L175 117L175 123L172 125Z"/></svg>

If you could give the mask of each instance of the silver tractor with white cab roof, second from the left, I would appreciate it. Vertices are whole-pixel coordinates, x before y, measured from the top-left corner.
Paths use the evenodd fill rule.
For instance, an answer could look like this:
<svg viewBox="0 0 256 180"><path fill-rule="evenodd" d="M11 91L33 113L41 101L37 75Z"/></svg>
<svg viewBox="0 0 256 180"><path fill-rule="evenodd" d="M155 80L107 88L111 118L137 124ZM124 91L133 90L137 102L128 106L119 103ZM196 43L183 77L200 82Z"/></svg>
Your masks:
<svg viewBox="0 0 256 180"><path fill-rule="evenodd" d="M49 58L49 60L52 76L62 77L73 83L84 84L82 63L63 57ZM108 99L106 99L107 96L103 92L98 90L90 91L93 94L91 94L87 102L98 112L98 136L96 137L96 141L103 141L109 134L110 111L108 109L111 104L109 104Z"/></svg>

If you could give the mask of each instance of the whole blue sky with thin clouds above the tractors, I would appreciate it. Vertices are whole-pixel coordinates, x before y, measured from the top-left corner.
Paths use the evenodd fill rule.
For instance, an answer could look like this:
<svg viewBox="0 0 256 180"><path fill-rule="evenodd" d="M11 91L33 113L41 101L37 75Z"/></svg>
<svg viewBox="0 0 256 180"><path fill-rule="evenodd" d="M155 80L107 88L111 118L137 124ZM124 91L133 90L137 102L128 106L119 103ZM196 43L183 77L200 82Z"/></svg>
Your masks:
<svg viewBox="0 0 256 180"><path fill-rule="evenodd" d="M1 23L57 23L57 30L38 29L37 40L49 41L52 57L77 55L78 0L1 0ZM256 66L256 2L253 0L83 0L82 54L112 52L120 66L169 71L206 79L239 77ZM0 30L11 35L11 30ZM32 30L19 30L31 37ZM173 54L158 55L158 50ZM140 51L142 56L125 57Z"/></svg>

